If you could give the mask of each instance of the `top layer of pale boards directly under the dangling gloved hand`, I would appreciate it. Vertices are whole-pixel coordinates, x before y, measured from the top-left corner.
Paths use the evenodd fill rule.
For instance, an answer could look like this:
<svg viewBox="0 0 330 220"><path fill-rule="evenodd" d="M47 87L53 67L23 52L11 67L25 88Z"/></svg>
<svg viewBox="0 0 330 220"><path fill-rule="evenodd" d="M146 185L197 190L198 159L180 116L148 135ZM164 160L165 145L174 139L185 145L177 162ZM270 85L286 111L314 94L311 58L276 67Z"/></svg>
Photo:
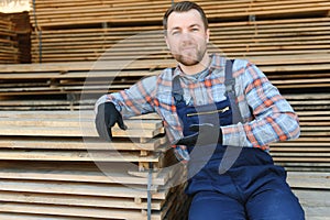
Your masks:
<svg viewBox="0 0 330 220"><path fill-rule="evenodd" d="M48 112L44 113L50 114ZM62 116L66 114L64 119L52 118L46 120L42 120L41 116L43 112L32 112L30 117L25 119L20 119L14 114L12 114L11 118L4 118L4 114L6 112L0 119L0 133L2 135L98 136L94 119L79 119L79 112L63 112ZM90 117L92 112L87 112L87 114ZM84 117L84 113L80 116ZM113 136L151 139L164 133L161 120L144 120L143 123L140 120L129 120L127 123L128 130L125 131L118 127L113 128Z"/></svg>

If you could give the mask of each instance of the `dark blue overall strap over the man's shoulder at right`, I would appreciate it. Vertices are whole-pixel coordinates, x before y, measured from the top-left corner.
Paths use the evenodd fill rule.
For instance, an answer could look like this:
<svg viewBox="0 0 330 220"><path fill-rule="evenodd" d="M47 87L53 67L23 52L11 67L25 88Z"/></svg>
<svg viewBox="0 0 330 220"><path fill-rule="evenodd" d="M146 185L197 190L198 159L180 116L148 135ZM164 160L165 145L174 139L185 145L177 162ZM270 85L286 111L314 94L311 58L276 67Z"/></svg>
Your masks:
<svg viewBox="0 0 330 220"><path fill-rule="evenodd" d="M234 59L227 59L226 61L226 70L224 70L224 86L226 86L226 94L230 100L230 106L232 109L232 123L237 124L238 122L243 122L243 118L241 116L241 111L239 105L237 102L237 95L235 95L235 79L232 76L232 66Z"/></svg>

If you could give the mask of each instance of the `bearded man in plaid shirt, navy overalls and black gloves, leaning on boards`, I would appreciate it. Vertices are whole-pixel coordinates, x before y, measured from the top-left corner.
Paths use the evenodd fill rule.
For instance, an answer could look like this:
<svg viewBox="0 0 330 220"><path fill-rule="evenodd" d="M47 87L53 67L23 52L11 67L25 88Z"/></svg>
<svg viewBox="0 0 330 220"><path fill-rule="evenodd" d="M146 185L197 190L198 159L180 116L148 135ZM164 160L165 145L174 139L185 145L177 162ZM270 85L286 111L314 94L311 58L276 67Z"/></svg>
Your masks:
<svg viewBox="0 0 330 220"><path fill-rule="evenodd" d="M114 123L127 129L122 116L157 112L178 158L188 163L190 220L304 219L267 145L299 136L289 103L255 65L208 54L208 21L196 3L175 3L163 23L177 67L102 96L100 136L111 140Z"/></svg>

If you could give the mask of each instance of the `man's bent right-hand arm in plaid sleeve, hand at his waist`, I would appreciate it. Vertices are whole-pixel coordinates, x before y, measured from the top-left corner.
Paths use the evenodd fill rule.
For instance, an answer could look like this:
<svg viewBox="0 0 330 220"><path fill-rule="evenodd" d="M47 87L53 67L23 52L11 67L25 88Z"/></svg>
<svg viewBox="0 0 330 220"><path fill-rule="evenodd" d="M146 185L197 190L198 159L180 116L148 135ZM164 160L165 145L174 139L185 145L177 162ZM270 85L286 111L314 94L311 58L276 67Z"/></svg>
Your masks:
<svg viewBox="0 0 330 220"><path fill-rule="evenodd" d="M254 120L222 127L223 144L264 148L272 142L298 138L297 114L267 77L243 61L239 61L234 70L239 75L238 100L251 107Z"/></svg>

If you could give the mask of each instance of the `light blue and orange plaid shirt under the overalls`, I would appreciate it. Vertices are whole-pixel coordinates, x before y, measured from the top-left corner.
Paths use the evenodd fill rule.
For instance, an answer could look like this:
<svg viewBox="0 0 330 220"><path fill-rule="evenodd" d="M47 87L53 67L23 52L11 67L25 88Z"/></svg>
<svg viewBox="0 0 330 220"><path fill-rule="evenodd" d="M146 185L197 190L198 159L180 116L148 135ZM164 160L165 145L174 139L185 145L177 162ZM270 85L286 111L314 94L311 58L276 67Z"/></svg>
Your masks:
<svg viewBox="0 0 330 220"><path fill-rule="evenodd" d="M226 99L226 58L212 55L210 66L197 78L179 67L166 68L157 76L144 78L130 89L102 96L97 105L112 101L123 118L157 112L170 142L183 138L183 124L172 97L172 80L180 76L188 105L208 105ZM266 76L253 64L235 59L233 64L237 101L243 123L221 127L223 145L260 147L268 151L272 142L296 139L300 134L298 117ZM97 108L96 108L97 109ZM180 160L189 160L185 146L176 146Z"/></svg>

